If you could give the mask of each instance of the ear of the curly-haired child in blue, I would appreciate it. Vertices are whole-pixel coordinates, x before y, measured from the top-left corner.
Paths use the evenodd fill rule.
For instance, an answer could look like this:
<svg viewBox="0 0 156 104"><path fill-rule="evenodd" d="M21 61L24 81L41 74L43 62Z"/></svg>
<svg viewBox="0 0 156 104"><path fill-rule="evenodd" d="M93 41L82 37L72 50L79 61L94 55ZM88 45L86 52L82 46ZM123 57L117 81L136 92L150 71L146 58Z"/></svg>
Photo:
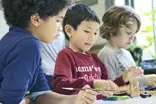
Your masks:
<svg viewBox="0 0 156 104"><path fill-rule="evenodd" d="M34 14L30 17L30 21L32 25L34 25L35 27L38 27L40 25L41 18L38 14Z"/></svg>

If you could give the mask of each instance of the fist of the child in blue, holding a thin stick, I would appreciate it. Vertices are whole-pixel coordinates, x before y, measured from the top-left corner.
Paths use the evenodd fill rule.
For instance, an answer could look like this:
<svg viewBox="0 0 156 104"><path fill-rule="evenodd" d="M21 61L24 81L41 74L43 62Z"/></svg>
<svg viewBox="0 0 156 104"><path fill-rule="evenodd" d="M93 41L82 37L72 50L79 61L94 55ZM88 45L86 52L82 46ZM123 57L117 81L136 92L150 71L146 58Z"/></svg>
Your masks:
<svg viewBox="0 0 156 104"><path fill-rule="evenodd" d="M75 104L95 104L97 92L89 88L88 85L83 87L85 90L79 92Z"/></svg>

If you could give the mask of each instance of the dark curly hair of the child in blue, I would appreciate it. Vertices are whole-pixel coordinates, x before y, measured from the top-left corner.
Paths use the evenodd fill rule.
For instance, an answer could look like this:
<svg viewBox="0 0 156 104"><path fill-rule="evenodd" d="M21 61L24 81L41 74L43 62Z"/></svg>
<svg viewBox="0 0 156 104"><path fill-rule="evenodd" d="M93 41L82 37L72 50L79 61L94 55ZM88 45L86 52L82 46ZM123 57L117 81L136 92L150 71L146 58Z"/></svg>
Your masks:
<svg viewBox="0 0 156 104"><path fill-rule="evenodd" d="M7 24L21 28L28 27L33 14L38 13L45 20L57 15L69 3L69 0L2 0Z"/></svg>

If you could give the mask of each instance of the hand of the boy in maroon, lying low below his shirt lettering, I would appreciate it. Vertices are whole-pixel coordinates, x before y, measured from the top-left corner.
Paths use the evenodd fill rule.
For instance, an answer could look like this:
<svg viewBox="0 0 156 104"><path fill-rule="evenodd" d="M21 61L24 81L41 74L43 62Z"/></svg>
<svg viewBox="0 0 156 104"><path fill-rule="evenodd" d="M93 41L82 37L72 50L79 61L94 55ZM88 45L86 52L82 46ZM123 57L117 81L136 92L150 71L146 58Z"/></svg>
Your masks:
<svg viewBox="0 0 156 104"><path fill-rule="evenodd" d="M94 88L103 90L119 90L119 87L111 80L94 80Z"/></svg>

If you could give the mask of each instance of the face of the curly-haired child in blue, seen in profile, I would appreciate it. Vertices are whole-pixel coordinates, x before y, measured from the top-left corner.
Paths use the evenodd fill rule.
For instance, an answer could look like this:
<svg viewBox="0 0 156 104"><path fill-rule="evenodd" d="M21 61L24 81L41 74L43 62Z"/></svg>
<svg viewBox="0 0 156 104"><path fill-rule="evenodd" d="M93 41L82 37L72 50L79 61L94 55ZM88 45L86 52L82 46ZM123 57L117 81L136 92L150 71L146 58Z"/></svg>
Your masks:
<svg viewBox="0 0 156 104"><path fill-rule="evenodd" d="M41 41L50 43L59 36L62 31L61 22L65 16L66 9L63 9L58 15L48 17L46 20L40 19L40 23L33 30L33 34Z"/></svg>

